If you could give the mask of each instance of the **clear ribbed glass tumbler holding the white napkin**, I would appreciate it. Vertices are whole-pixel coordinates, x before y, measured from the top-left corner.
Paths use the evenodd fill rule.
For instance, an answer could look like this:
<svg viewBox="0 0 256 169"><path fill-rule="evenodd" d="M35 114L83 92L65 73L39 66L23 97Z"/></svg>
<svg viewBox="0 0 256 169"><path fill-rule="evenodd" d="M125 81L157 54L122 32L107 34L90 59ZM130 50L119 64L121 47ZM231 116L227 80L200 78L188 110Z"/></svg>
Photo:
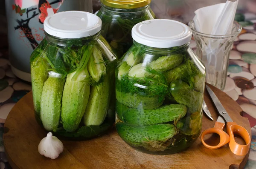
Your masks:
<svg viewBox="0 0 256 169"><path fill-rule="evenodd" d="M189 27L196 42L196 54L206 67L206 82L223 90L227 79L230 50L235 38L241 32L241 25L235 21L231 34L226 35L198 32L193 20L189 22Z"/></svg>

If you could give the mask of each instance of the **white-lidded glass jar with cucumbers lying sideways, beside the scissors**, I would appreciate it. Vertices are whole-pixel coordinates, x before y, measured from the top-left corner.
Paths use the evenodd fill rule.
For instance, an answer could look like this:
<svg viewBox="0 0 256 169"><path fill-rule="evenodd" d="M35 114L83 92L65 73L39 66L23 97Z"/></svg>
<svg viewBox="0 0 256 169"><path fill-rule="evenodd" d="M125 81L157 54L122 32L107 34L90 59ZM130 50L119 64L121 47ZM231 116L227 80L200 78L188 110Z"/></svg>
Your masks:
<svg viewBox="0 0 256 169"><path fill-rule="evenodd" d="M189 48L191 29L147 20L116 68L116 129L130 146L153 154L189 147L200 135L205 67Z"/></svg>

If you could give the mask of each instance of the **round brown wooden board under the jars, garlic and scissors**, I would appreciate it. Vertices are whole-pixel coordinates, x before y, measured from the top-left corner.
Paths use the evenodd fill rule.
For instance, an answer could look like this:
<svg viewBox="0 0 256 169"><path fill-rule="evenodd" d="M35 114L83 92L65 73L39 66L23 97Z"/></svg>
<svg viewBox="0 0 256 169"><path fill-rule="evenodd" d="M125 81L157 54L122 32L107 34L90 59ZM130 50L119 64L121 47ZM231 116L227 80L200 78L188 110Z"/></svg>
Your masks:
<svg viewBox="0 0 256 169"><path fill-rule="evenodd" d="M247 118L241 117L239 105L221 90L212 87L233 121L244 126L251 135ZM218 115L205 92L205 101L214 120ZM203 129L214 126L203 115ZM183 152L174 155L149 155L128 146L113 128L101 137L85 141L67 141L64 152L55 159L38 153L38 144L45 132L36 122L32 93L24 96L9 113L3 135L9 163L14 169L242 169L246 156L234 155L228 145L220 149L207 149L198 138Z"/></svg>

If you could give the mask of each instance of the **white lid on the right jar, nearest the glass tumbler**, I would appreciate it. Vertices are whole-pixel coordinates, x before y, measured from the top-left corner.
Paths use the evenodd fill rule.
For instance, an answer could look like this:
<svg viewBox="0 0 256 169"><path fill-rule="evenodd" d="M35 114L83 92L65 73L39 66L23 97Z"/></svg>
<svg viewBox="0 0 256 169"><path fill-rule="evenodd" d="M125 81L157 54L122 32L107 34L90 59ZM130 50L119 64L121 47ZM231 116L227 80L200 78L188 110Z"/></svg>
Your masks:
<svg viewBox="0 0 256 169"><path fill-rule="evenodd" d="M131 31L140 44L155 48L171 48L188 43L192 37L189 26L175 20L154 19L137 23Z"/></svg>

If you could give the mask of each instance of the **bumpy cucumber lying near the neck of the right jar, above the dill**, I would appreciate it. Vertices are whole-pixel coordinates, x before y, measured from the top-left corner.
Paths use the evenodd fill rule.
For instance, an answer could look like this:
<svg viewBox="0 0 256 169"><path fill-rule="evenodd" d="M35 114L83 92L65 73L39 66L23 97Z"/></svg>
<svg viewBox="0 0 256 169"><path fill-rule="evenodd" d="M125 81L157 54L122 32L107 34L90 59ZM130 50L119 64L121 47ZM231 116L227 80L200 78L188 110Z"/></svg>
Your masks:
<svg viewBox="0 0 256 169"><path fill-rule="evenodd" d="M170 56L162 56L157 60L152 61L148 64L152 69L155 69L160 72L165 72L167 70L173 69L176 66L180 65L183 61L182 54L173 54Z"/></svg>

